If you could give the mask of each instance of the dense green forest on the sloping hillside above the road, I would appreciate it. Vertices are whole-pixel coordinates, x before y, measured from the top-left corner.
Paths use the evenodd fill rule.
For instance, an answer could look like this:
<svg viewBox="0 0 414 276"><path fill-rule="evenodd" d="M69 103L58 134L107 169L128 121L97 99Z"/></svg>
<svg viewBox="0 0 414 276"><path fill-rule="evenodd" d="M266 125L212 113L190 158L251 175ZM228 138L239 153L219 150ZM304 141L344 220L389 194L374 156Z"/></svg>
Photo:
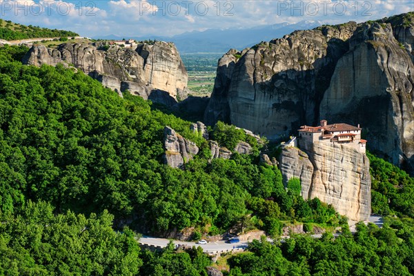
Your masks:
<svg viewBox="0 0 414 276"><path fill-rule="evenodd" d="M4 213L28 199L43 200L59 213L106 209L117 223L128 219L132 228L152 233L206 225L217 233L252 213L250 225L273 233L279 233L279 219L337 223L332 208L287 193L279 170L259 164L257 151L211 162L200 155L184 170L169 168L161 162L164 126L208 152L190 122L151 110L140 97L122 99L81 72L23 66L16 59L26 50L0 49ZM233 132L248 141L242 130L224 124L213 135L234 148L235 141L224 140Z"/></svg>

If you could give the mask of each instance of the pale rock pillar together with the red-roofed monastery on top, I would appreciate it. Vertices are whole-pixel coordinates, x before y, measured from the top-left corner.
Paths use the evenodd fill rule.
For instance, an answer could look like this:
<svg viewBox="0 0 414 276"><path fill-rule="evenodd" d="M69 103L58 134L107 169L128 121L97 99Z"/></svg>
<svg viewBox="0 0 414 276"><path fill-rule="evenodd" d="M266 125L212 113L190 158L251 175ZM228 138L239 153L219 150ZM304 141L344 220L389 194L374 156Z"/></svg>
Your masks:
<svg viewBox="0 0 414 276"><path fill-rule="evenodd" d="M302 126L299 137L282 145L279 169L286 185L300 179L304 199L318 197L348 219L371 214L371 175L366 141L359 126L348 124Z"/></svg>

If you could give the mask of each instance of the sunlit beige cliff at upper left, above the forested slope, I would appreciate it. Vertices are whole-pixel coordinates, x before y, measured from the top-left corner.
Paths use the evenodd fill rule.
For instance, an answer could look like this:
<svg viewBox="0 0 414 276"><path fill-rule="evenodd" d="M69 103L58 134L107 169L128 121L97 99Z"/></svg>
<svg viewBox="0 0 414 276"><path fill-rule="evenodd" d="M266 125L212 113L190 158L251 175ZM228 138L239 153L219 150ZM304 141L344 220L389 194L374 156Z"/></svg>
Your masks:
<svg viewBox="0 0 414 276"><path fill-rule="evenodd" d="M137 48L111 46L99 50L90 44L64 43L56 49L33 46L23 63L75 67L98 79L104 86L172 106L177 93L186 99L187 72L173 43L141 43ZM154 95L153 95L154 94Z"/></svg>

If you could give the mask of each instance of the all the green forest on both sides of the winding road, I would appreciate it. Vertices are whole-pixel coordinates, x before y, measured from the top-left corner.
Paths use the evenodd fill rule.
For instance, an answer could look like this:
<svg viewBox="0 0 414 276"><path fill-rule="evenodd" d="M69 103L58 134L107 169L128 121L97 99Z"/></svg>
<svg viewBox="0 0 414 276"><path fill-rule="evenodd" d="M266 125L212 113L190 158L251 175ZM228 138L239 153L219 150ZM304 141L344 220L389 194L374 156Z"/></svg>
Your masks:
<svg viewBox="0 0 414 276"><path fill-rule="evenodd" d="M262 144L234 126L210 131L221 146L247 141L252 155L210 159L190 122L150 101L103 88L71 69L23 66L25 47L0 48L0 275L206 275L200 249L141 250L137 233L195 228L217 235L259 228L277 239L284 224L328 229L333 239L297 235L253 242L229 257L228 275L410 275L414 273L414 182L368 155L373 211L384 227L346 229L346 217L319 199L287 189L276 166L261 164ZM200 153L184 168L162 162L164 127Z"/></svg>

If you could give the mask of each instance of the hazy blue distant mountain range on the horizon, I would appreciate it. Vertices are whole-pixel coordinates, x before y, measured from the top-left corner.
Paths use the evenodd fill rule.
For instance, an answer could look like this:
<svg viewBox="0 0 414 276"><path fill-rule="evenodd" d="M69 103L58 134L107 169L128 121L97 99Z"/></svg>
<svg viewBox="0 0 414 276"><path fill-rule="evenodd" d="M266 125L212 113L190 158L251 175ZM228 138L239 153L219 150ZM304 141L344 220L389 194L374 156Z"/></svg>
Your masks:
<svg viewBox="0 0 414 276"><path fill-rule="evenodd" d="M298 23L277 23L273 25L257 26L254 28L239 29L208 29L202 32L184 32L172 37L145 36L145 37L119 37L115 34L96 39L157 39L172 41L181 53L193 52L227 52L230 48L243 50L259 41L270 41L290 34L295 30L309 30L323 25L321 21L300 21Z"/></svg>

